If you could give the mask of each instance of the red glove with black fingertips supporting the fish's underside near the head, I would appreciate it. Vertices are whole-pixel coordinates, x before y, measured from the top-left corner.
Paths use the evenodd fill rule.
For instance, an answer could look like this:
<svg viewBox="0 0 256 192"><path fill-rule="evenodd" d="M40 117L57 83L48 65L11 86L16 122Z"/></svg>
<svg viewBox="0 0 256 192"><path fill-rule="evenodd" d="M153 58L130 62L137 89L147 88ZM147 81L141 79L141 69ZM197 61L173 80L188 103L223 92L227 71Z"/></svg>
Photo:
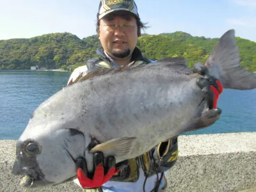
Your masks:
<svg viewBox="0 0 256 192"><path fill-rule="evenodd" d="M104 164L104 156L102 152L93 154L94 169L93 173L88 173L87 164L84 157L77 158L77 179L83 188L99 188L105 182L119 171L116 171L115 157L109 156Z"/></svg>

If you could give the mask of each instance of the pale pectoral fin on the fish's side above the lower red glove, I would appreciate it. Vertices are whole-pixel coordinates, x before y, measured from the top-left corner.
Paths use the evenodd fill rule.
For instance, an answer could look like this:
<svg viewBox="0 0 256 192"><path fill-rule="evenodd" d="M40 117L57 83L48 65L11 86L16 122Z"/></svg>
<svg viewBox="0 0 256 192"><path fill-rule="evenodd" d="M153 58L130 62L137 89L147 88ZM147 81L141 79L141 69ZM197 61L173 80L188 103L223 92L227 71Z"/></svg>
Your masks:
<svg viewBox="0 0 256 192"><path fill-rule="evenodd" d="M114 140L109 140L90 150L90 152L95 153L97 151L101 151L105 156L115 156L122 157L131 152L131 148L133 148L135 144L136 137L128 138L117 138Z"/></svg>

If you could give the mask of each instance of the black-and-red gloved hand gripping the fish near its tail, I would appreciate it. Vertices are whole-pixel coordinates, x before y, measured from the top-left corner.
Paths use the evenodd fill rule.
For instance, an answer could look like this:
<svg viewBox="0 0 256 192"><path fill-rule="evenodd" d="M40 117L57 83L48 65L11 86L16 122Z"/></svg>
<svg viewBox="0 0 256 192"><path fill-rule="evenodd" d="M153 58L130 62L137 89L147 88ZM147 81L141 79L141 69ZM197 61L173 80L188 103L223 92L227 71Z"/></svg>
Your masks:
<svg viewBox="0 0 256 192"><path fill-rule="evenodd" d="M202 76L197 79L196 83L202 89L202 92L208 95L209 109L217 108L219 96L223 92L221 82L215 77L210 76L208 68L202 63L196 63L193 70Z"/></svg>

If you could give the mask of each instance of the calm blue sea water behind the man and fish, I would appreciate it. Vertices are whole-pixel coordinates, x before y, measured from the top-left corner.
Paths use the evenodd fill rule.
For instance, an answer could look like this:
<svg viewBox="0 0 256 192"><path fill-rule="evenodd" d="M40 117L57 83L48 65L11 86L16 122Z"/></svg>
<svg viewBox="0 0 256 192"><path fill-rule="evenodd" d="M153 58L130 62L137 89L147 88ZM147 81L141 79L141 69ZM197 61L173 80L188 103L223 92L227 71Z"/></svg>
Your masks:
<svg viewBox="0 0 256 192"><path fill-rule="evenodd" d="M0 140L17 140L36 107L67 84L70 72L0 70ZM225 90L220 120L186 134L256 131L256 89Z"/></svg>

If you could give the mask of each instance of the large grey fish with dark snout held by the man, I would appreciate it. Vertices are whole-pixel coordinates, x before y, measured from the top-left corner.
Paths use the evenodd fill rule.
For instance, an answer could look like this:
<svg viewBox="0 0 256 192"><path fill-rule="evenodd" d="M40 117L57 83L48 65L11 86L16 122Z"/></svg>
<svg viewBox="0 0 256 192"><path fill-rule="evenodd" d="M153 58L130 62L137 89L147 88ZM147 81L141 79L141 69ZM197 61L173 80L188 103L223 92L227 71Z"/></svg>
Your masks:
<svg viewBox="0 0 256 192"><path fill-rule="evenodd" d="M256 77L239 65L235 44L234 30L227 31L205 65L224 88L256 88ZM118 163L168 138L214 124L220 109L209 110L196 84L200 75L190 71L184 59L174 58L60 90L31 115L17 141L13 174L29 175L31 187L60 184L76 177L77 157L84 156L92 170L92 152L97 150L115 156ZM89 152L93 140L101 144Z"/></svg>

